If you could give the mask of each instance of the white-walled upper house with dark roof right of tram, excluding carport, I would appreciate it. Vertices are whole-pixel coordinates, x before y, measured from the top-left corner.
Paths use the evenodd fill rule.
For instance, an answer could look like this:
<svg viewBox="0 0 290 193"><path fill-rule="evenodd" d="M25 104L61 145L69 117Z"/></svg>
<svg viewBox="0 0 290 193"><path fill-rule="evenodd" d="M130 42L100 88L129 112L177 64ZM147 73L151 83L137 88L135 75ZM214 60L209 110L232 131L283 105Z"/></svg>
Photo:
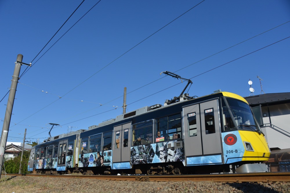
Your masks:
<svg viewBox="0 0 290 193"><path fill-rule="evenodd" d="M244 98L262 126L269 148L290 148L290 93L269 93Z"/></svg>

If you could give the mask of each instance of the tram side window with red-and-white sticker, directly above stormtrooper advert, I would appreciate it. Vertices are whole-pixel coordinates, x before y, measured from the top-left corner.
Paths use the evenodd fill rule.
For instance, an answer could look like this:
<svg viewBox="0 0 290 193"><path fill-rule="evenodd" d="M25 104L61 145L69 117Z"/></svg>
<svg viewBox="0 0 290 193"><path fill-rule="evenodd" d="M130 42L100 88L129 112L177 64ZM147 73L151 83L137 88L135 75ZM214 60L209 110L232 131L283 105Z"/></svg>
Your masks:
<svg viewBox="0 0 290 193"><path fill-rule="evenodd" d="M156 142L181 138L181 115L156 120Z"/></svg>

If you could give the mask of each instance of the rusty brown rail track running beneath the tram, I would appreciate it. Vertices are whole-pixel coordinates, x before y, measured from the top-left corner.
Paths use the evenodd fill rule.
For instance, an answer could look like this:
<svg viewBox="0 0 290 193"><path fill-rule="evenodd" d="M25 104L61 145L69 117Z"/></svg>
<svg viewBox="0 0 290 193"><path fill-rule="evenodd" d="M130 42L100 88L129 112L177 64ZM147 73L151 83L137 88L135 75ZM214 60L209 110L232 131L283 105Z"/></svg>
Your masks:
<svg viewBox="0 0 290 193"><path fill-rule="evenodd" d="M262 172L245 174L200 174L200 175L41 175L41 174L7 174L13 176L57 178L90 178L119 181L215 181L215 182L290 182L290 172ZM3 175L4 176L4 175Z"/></svg>

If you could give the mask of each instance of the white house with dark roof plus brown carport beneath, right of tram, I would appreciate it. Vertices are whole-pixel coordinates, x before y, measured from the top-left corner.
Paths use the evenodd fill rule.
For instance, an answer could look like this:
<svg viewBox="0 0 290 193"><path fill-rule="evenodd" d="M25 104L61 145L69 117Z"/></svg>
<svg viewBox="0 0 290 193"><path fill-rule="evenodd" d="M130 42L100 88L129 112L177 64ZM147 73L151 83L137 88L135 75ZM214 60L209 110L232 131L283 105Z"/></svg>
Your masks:
<svg viewBox="0 0 290 193"><path fill-rule="evenodd" d="M290 93L244 97L268 141L271 172L290 171Z"/></svg>

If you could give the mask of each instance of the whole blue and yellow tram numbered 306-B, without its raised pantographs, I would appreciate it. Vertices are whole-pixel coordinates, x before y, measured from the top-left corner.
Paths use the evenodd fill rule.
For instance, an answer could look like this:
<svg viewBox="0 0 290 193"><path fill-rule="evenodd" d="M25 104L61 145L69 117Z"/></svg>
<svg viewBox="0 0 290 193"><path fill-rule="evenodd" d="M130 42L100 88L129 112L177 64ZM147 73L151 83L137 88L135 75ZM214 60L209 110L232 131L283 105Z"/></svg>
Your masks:
<svg viewBox="0 0 290 193"><path fill-rule="evenodd" d="M247 101L218 92L184 94L52 137L31 150L29 171L46 174L261 172L270 149ZM255 163L255 164L253 164Z"/></svg>

